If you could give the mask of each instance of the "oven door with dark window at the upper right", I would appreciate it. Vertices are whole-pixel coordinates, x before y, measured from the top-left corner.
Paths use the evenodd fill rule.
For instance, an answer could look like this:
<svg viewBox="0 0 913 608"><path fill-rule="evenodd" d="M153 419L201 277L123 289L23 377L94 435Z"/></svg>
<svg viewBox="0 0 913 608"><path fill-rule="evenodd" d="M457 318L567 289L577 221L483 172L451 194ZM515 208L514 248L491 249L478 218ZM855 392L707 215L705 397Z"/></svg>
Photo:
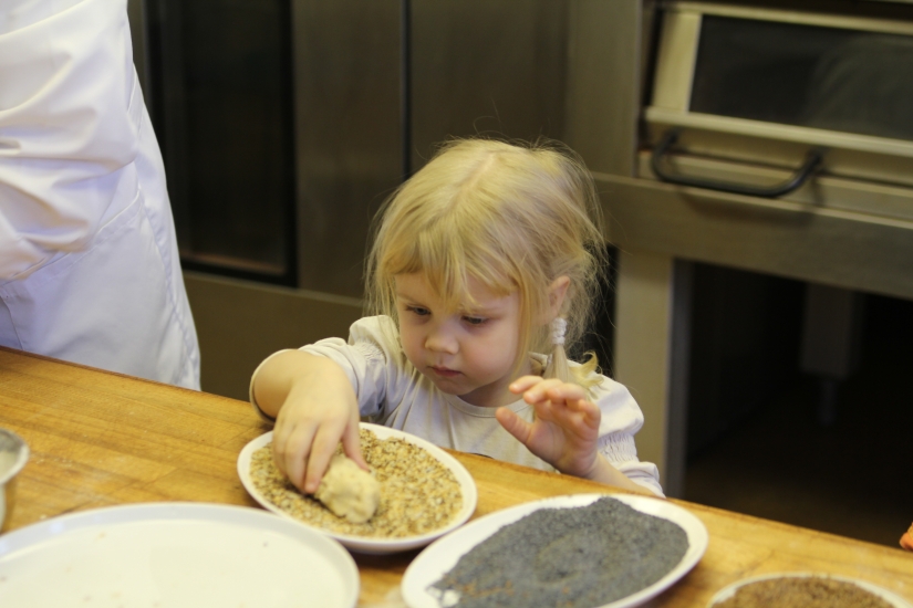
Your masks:
<svg viewBox="0 0 913 608"><path fill-rule="evenodd" d="M661 153L653 165L670 181L722 176L732 179L720 189L784 196L791 190L762 190L779 186L771 178L789 182L817 153L819 188L799 181L790 200L913 219L909 205L850 193L862 184L913 187L911 108L913 22L681 3L664 11L645 118ZM672 145L686 153L681 174L658 158ZM692 174L684 164L697 157L724 165Z"/></svg>

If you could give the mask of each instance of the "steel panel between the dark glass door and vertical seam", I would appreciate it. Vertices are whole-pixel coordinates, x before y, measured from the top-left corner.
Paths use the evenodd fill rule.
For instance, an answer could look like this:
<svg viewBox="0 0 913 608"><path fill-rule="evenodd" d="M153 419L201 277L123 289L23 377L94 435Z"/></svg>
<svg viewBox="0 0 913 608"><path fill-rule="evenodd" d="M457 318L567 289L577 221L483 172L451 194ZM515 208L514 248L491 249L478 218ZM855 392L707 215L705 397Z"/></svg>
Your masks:
<svg viewBox="0 0 913 608"><path fill-rule="evenodd" d="M299 286L362 295L372 216L403 174L398 0L294 0Z"/></svg>

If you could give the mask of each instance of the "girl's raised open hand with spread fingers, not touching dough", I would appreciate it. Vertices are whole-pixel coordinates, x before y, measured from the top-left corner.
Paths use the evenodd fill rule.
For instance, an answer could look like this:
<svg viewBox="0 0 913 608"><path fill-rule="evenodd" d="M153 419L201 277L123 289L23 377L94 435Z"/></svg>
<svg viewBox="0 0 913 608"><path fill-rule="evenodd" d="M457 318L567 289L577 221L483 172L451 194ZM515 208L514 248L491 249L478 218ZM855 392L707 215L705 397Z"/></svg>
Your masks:
<svg viewBox="0 0 913 608"><path fill-rule="evenodd" d="M527 449L559 471L592 478L598 465L596 441L601 412L587 400L583 387L558 379L523 376L510 385L536 409L527 422L507 408L495 413L498 422Z"/></svg>

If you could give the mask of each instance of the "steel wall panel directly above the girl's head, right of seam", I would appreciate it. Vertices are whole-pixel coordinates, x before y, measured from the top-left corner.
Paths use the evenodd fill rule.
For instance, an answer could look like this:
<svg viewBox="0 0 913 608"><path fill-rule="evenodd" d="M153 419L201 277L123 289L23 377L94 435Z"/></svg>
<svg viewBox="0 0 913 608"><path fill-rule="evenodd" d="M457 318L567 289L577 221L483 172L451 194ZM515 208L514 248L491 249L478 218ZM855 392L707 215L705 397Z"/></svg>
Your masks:
<svg viewBox="0 0 913 608"><path fill-rule="evenodd" d="M564 135L567 0L412 1L412 168L450 136Z"/></svg>

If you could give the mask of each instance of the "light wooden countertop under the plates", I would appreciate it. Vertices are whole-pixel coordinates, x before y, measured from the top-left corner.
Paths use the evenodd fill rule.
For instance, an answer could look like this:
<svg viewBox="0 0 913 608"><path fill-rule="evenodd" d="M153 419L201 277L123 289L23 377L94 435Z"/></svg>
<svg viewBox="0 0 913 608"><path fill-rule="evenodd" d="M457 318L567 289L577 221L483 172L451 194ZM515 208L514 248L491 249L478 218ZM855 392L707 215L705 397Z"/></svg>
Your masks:
<svg viewBox="0 0 913 608"><path fill-rule="evenodd" d="M257 506L238 479L241 448L269 430L243 402L0 347L0 427L29 443L8 524L137 502ZM606 485L455 453L478 486L474 517ZM708 506L673 501L709 532L701 563L647 606L704 607L720 588L774 572L849 576L913 602L913 554ZM900 537L903 531L898 531ZM359 606L402 606L398 585L417 552L355 555Z"/></svg>

